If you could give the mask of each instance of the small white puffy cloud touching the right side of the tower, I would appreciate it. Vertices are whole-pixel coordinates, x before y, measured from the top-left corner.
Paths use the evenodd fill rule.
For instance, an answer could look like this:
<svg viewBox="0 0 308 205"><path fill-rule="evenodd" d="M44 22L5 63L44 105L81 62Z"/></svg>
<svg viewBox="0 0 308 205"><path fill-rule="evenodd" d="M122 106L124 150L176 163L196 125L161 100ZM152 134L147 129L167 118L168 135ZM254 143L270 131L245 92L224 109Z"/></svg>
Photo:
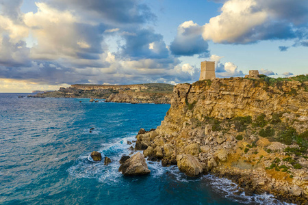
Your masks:
<svg viewBox="0 0 308 205"><path fill-rule="evenodd" d="M211 55L209 57L209 61L215 61L215 72L216 77L242 77L244 76L242 70L238 70L238 66L235 66L235 64L231 62L226 62L225 64L220 63L220 59L222 59L223 56L218 55Z"/></svg>

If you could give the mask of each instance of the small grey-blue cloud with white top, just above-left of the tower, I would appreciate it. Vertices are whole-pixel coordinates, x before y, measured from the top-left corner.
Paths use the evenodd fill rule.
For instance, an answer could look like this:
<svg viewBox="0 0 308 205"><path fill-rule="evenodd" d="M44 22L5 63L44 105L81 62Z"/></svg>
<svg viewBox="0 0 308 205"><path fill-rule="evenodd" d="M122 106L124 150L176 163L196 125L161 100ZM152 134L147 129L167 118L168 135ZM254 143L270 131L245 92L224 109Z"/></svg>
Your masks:
<svg viewBox="0 0 308 205"><path fill-rule="evenodd" d="M174 55L209 57L208 44L201 36L202 27L192 20L185 21L177 28L177 36L170 44L170 51Z"/></svg>

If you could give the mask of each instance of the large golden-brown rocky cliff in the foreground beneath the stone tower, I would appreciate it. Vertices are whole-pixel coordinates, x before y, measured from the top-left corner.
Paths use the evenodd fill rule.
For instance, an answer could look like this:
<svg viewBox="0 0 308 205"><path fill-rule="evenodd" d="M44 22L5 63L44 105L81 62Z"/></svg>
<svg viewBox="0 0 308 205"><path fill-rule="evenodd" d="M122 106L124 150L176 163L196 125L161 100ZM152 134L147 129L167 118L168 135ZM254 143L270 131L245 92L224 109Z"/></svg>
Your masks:
<svg viewBox="0 0 308 205"><path fill-rule="evenodd" d="M155 131L138 133L148 160L190 176L212 173L239 184L239 194L308 198L308 76L214 79L175 87Z"/></svg>

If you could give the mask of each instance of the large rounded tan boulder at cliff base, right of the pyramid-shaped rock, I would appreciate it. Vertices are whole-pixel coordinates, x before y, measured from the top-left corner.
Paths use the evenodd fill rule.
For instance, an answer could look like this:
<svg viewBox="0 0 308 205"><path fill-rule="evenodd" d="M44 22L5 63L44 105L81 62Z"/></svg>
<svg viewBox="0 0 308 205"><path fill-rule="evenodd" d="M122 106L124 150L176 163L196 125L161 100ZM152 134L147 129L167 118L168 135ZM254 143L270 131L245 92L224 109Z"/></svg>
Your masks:
<svg viewBox="0 0 308 205"><path fill-rule="evenodd" d="M191 154L178 154L177 167L188 176L199 176L203 172L201 163Z"/></svg>

